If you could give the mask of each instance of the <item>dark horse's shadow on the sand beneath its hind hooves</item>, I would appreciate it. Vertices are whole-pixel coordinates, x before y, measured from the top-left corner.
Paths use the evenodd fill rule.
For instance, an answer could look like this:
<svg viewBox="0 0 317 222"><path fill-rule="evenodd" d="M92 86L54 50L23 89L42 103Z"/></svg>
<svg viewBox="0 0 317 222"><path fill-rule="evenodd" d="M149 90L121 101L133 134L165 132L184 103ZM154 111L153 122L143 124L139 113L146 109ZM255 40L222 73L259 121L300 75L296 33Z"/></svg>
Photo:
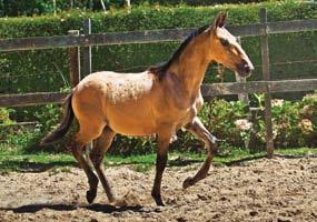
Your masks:
<svg viewBox="0 0 317 222"><path fill-rule="evenodd" d="M113 213L113 212L125 212L125 211L133 211L133 212L146 212L143 206L133 205L133 206L115 206L110 204L86 204L86 205L76 205L76 204L65 204L65 203L39 203L39 204L28 204L18 208L0 208L2 211L13 211L13 213L36 213L38 211L50 209L55 211L75 211L78 209L87 209L95 212L102 213Z"/></svg>

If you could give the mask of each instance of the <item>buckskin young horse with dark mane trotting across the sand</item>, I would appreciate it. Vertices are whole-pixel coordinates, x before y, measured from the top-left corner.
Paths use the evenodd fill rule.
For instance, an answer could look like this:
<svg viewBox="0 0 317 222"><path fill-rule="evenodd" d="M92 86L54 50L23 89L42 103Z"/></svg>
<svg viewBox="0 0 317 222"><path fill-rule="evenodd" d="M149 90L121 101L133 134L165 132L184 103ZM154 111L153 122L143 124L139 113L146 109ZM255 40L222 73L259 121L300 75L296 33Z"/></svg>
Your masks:
<svg viewBox="0 0 317 222"><path fill-rule="evenodd" d="M202 167L187 178L187 189L207 176L217 148L217 139L204 127L197 113L204 100L200 85L210 62L218 62L241 77L250 75L254 65L236 38L225 28L227 13L189 34L165 63L140 73L95 72L82 79L66 98L60 125L42 140L42 144L61 139L76 117L79 130L69 150L88 176L87 201L92 203L100 180L110 203L120 205L105 175L103 155L115 135L157 135L156 175L151 196L157 205L161 198L161 179L168 159L168 147L179 129L200 139L208 150ZM93 147L83 158L86 144ZM97 172L93 172L93 168Z"/></svg>

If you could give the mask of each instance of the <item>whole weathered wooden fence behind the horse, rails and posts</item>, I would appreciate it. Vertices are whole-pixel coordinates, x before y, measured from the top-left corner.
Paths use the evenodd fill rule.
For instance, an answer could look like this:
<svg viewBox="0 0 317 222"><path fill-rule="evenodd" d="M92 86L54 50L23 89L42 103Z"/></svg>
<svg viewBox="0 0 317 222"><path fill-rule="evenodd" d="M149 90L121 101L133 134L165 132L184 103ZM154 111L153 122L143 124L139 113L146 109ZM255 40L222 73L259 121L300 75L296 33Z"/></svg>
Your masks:
<svg viewBox="0 0 317 222"><path fill-rule="evenodd" d="M228 30L238 37L261 37L264 81L240 81L230 83L204 84L201 85L201 90L204 97L265 93L266 144L268 157L271 158L274 154L270 107L271 93L316 90L317 79L270 81L268 36L274 33L314 31L317 30L317 20L267 22L267 13L265 9L260 10L259 16L261 21L260 23L228 27ZM83 75L87 75L91 72L91 47L93 46L177 41L184 39L195 29L171 29L93 34L90 32L90 20L86 20L83 24L83 34L79 34L79 31L69 31L68 36L61 37L2 39L0 40L0 52L69 48L70 80L71 84L76 85L80 81L80 68L82 68L81 70ZM79 53L81 47L83 47L82 67L79 62ZM2 94L0 95L0 107L26 107L46 103L60 103L65 97L66 93L61 92Z"/></svg>

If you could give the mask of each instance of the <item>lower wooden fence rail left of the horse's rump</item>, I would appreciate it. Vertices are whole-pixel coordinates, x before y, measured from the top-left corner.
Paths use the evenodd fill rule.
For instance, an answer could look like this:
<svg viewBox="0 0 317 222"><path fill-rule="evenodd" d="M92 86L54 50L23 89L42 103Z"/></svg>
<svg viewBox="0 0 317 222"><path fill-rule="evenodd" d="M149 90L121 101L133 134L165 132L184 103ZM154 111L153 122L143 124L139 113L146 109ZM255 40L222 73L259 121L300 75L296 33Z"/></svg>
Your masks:
<svg viewBox="0 0 317 222"><path fill-rule="evenodd" d="M0 108L3 107L28 107L47 103L61 103L67 93L61 92L37 92L26 94L0 95Z"/></svg>

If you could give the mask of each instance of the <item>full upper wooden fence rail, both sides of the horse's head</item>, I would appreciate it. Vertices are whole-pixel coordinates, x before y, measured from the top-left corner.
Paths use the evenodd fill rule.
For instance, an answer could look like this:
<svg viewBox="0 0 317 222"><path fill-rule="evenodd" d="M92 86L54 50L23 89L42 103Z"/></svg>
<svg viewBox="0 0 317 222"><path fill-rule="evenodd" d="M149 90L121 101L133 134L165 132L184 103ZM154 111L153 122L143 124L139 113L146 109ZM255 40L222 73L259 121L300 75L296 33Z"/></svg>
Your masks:
<svg viewBox="0 0 317 222"><path fill-rule="evenodd" d="M261 36L261 23L238 27L228 27L228 30L239 37ZM294 26L294 27L293 27ZM167 29L132 32L107 32L88 36L34 37L0 40L0 51L20 51L50 48L111 46L131 43L157 43L179 41L195 29ZM317 20L283 21L267 23L267 33L286 33L297 31L317 30Z"/></svg>

